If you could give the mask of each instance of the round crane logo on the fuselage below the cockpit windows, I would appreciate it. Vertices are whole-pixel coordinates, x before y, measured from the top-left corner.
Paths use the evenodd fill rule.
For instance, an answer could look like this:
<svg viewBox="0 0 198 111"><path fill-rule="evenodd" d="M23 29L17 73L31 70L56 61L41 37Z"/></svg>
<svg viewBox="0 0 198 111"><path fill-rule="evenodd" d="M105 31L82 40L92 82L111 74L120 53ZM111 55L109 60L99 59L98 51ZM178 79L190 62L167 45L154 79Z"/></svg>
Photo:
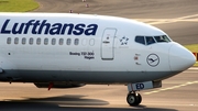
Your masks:
<svg viewBox="0 0 198 111"><path fill-rule="evenodd" d="M160 57L156 54L150 54L146 62L150 66L155 67L160 63Z"/></svg>

